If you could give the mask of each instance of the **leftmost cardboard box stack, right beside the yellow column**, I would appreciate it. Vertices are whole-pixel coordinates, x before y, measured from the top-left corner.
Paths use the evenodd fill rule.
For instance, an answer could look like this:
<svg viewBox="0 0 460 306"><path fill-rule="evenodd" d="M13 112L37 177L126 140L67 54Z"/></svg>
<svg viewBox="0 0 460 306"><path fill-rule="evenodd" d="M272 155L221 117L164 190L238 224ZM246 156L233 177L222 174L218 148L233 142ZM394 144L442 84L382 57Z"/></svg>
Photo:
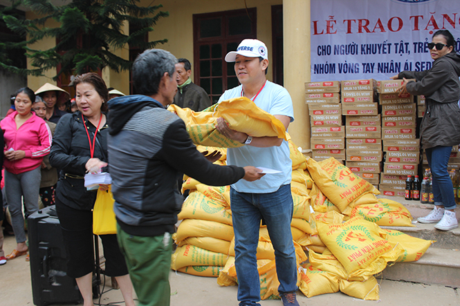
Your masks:
<svg viewBox="0 0 460 306"><path fill-rule="evenodd" d="M334 157L345 159L340 82L305 83L306 104L309 105L311 149L314 160Z"/></svg>

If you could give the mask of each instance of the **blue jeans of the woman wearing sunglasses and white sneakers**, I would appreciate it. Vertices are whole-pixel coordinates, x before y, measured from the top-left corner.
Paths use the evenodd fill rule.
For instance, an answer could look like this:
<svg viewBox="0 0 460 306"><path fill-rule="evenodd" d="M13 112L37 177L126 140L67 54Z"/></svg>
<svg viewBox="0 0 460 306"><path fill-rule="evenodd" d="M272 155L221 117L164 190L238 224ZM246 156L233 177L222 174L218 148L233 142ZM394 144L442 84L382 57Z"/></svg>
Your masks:
<svg viewBox="0 0 460 306"><path fill-rule="evenodd" d="M452 146L435 146L425 151L433 178L434 204L445 209L454 209L457 204L455 204L454 187L448 173Z"/></svg>

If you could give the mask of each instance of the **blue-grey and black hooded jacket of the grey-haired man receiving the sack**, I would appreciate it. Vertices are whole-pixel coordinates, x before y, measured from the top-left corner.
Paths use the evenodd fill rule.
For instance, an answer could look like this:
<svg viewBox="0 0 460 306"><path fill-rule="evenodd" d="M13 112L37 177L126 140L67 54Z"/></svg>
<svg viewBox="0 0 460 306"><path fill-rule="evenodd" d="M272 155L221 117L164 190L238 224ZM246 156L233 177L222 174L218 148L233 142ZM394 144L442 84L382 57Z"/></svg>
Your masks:
<svg viewBox="0 0 460 306"><path fill-rule="evenodd" d="M138 111L133 114L134 108ZM156 100L117 97L110 100L109 109L109 122L118 122L115 129L110 125L108 146L113 209L123 231L136 236L174 233L183 203L176 185L183 173L213 186L243 178L241 167L208 162L190 140L183 120Z"/></svg>

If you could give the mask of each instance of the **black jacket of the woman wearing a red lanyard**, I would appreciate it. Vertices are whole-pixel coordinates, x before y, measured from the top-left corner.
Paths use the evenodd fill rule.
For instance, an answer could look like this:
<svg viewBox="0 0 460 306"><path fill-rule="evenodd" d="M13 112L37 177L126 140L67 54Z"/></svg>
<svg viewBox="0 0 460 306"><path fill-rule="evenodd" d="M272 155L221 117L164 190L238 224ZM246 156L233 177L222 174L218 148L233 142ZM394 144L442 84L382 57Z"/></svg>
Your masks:
<svg viewBox="0 0 460 306"><path fill-rule="evenodd" d="M96 127L85 118L88 126L91 144ZM107 162L107 133L105 124L97 133L94 156ZM73 209L91 210L96 199L96 191L87 191L84 187L85 164L91 158L88 135L82 121L82 113L77 111L66 114L59 119L53 136L50 151L51 166L61 170L57 181L56 197ZM107 169L102 169L107 171ZM80 177L80 178L78 178Z"/></svg>

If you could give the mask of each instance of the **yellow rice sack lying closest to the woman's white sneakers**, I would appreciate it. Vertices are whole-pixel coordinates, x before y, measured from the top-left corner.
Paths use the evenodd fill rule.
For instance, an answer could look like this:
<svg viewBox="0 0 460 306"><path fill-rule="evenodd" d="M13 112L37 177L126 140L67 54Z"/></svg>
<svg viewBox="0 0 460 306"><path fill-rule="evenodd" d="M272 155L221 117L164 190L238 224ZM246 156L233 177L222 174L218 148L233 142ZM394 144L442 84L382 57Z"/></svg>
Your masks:
<svg viewBox="0 0 460 306"><path fill-rule="evenodd" d="M350 218L363 218L380 226L414 227L412 216L403 204L387 199L357 205L351 209L349 216Z"/></svg>

